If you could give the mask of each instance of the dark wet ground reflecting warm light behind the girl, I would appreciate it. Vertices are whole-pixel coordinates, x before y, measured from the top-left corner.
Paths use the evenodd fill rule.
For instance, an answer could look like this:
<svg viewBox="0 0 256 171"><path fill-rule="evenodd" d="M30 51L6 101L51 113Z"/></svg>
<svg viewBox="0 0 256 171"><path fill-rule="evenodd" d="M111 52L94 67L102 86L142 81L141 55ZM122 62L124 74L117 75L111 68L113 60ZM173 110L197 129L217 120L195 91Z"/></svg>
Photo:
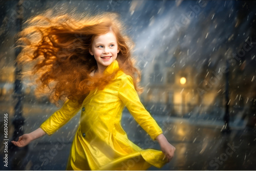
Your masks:
<svg viewBox="0 0 256 171"><path fill-rule="evenodd" d="M3 109L2 112L10 111ZM36 130L56 108L25 106L24 132ZM32 115L33 113L33 115ZM44 116L47 113L48 116ZM52 136L34 140L27 147L8 151L8 167L1 164L1 170L65 170L71 143L79 124L78 113ZM204 120L191 121L176 117L153 116L162 128L167 140L176 147L175 157L162 168L148 170L254 170L256 169L256 130L246 126L231 126L229 134L221 133L222 123ZM9 115L9 139L13 126ZM1 139L3 140L3 119ZM123 113L123 129L129 139L141 148L159 149L157 141L140 127L129 113ZM62 144L58 149L56 144ZM9 148L11 148L9 146ZM3 163L4 145L1 145Z"/></svg>

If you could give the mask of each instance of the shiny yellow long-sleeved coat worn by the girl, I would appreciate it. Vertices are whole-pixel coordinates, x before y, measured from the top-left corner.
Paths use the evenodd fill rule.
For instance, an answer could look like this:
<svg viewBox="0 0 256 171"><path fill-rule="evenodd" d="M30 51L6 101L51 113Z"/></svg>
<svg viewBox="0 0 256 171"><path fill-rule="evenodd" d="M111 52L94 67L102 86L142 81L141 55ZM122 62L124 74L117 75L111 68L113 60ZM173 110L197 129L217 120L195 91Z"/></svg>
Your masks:
<svg viewBox="0 0 256 171"><path fill-rule="evenodd" d="M118 69L117 60L104 73ZM40 125L52 135L81 110L80 125L72 142L67 170L146 170L166 164L164 154L156 149L141 149L127 138L121 126L124 105L152 140L162 129L151 117L134 89L131 76L119 71L104 90L95 89L75 109L71 100Z"/></svg>

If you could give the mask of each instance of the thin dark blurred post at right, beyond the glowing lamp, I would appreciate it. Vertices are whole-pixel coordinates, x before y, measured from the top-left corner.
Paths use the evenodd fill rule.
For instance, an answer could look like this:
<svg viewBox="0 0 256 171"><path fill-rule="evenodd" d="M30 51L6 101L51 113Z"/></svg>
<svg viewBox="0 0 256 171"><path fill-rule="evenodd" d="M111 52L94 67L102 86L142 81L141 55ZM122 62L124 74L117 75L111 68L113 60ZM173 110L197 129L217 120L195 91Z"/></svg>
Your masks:
<svg viewBox="0 0 256 171"><path fill-rule="evenodd" d="M229 83L228 83L228 80L229 80L229 63L228 61L226 60L226 66L227 66L227 73L226 73L226 90L225 90L225 115L224 115L224 125L222 127L222 130L221 132L223 133L229 133L230 132L230 127L229 127L229 94L228 94L228 91L229 91Z"/></svg>

